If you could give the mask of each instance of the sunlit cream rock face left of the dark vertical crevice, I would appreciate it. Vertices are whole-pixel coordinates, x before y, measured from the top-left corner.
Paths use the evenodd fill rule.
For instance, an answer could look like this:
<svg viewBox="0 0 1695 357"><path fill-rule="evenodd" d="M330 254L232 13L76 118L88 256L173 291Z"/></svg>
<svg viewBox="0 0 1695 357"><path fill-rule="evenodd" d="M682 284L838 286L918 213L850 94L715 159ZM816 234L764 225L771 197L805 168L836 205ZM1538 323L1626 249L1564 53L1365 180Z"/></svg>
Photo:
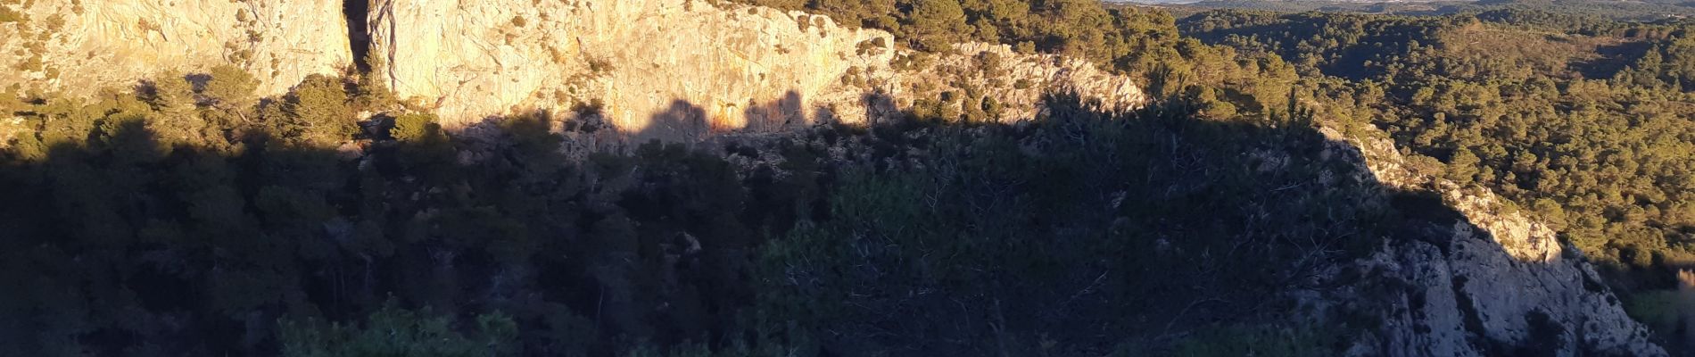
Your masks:
<svg viewBox="0 0 1695 357"><path fill-rule="evenodd" d="M122 86L159 73L237 64L261 95L353 64L339 0L39 0L0 22L0 88Z"/></svg>

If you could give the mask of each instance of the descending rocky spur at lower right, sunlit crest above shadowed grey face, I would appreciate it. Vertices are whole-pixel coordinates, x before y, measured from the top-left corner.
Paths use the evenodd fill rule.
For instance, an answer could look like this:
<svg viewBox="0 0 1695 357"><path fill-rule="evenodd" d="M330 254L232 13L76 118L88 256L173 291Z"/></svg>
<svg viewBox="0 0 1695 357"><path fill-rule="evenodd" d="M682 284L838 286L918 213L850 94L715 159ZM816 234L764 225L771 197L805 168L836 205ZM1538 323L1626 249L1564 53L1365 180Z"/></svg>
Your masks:
<svg viewBox="0 0 1695 357"><path fill-rule="evenodd" d="M1354 345L1353 355L1666 355L1581 254L1561 247L1544 223L1488 189L1419 173L1388 139L1324 134L1383 186L1436 193L1459 215L1448 227L1410 233L1419 239L1387 240L1358 262L1371 276L1363 284L1397 286L1387 294L1359 289L1327 298L1381 313L1380 333Z"/></svg>

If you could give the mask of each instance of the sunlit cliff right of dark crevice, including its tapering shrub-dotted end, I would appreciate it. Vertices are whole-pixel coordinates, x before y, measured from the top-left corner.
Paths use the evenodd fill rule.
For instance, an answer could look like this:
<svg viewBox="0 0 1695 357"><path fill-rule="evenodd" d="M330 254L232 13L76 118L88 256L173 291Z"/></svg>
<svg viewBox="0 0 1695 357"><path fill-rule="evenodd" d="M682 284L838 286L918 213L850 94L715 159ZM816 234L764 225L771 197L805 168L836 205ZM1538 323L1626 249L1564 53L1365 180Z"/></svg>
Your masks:
<svg viewBox="0 0 1695 357"><path fill-rule="evenodd" d="M893 49L888 32L829 17L698 0L376 0L373 51L402 98L447 127L522 112L595 113L620 132L698 139L814 122L873 122L942 96L964 108L1003 98L1029 118L1042 90L1134 105L1137 86L1092 64L963 46L941 58ZM995 73L968 68L993 52ZM966 76L964 80L959 80ZM970 83L970 85L968 85ZM971 88L959 88L971 86ZM573 108L576 108L573 112ZM592 110L585 110L592 108Z"/></svg>

